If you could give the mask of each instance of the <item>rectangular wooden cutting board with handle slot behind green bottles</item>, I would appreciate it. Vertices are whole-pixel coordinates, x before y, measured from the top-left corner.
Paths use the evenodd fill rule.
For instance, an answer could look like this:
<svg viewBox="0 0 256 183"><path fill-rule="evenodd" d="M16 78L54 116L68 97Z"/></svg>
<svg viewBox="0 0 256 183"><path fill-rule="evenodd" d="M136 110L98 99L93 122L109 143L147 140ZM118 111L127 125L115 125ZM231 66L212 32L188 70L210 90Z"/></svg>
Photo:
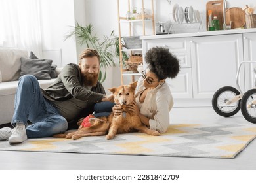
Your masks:
<svg viewBox="0 0 256 183"><path fill-rule="evenodd" d="M213 16L217 16L219 20L220 29L222 30L223 29L223 0L208 1L206 3L206 26L208 25L208 21L209 21L208 10L211 10Z"/></svg>

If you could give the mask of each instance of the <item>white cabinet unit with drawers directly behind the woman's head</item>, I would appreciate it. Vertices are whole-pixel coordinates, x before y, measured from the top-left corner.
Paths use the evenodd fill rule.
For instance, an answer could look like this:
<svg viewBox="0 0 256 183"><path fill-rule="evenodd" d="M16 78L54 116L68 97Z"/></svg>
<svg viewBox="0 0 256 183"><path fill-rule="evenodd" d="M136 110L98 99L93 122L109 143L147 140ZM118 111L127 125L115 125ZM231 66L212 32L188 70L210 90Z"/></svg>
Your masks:
<svg viewBox="0 0 256 183"><path fill-rule="evenodd" d="M167 47L177 56L181 65L181 71L174 79L167 79L172 95L176 99L192 99L192 71L190 58L190 38L177 39L152 39L142 41L143 56L153 47ZM146 63L143 64L146 67Z"/></svg>

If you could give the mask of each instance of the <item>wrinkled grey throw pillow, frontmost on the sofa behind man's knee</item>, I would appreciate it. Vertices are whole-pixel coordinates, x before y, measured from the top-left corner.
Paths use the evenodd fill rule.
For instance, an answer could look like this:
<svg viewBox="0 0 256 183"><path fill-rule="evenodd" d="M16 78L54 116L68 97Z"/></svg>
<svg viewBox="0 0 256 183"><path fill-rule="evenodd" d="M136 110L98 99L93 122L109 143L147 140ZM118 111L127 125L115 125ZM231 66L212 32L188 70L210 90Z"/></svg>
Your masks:
<svg viewBox="0 0 256 183"><path fill-rule="evenodd" d="M23 75L34 75L39 80L51 79L51 65L53 63L50 59L31 59L31 58L20 58L20 76Z"/></svg>

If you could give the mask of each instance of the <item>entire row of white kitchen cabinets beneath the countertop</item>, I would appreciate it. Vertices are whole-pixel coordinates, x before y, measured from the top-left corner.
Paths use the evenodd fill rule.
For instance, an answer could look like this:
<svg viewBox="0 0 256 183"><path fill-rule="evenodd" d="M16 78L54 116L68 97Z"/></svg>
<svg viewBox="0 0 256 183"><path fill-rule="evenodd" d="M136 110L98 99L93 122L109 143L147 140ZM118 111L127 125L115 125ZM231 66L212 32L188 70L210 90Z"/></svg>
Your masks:
<svg viewBox="0 0 256 183"><path fill-rule="evenodd" d="M238 65L256 60L256 29L205 31L141 37L143 54L154 46L167 46L179 58L181 71L167 83L176 107L211 107L213 94L223 86L236 87ZM254 88L253 69L242 67L242 92Z"/></svg>

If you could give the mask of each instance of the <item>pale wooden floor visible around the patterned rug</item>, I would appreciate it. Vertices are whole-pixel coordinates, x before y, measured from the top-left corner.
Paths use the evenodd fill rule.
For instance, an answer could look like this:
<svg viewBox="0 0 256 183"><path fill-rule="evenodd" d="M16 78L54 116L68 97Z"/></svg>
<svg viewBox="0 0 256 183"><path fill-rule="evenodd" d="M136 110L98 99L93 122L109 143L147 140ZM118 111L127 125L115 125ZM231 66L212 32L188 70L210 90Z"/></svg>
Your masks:
<svg viewBox="0 0 256 183"><path fill-rule="evenodd" d="M171 111L171 122L178 123L249 123L239 112L231 118L218 116L211 107L182 108ZM256 125L256 124L255 124ZM49 152L0 151L0 169L175 169L175 170L256 170L256 140L234 159L124 156Z"/></svg>

